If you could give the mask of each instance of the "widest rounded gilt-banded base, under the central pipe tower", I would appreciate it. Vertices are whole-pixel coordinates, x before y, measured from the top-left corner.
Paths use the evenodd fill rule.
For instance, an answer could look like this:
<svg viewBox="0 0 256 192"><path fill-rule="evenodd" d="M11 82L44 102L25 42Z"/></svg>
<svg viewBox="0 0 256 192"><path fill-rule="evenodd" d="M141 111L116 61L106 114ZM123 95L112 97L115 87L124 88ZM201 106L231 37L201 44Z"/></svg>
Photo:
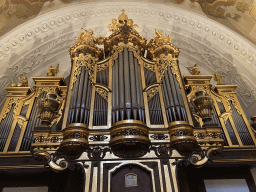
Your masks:
<svg viewBox="0 0 256 192"><path fill-rule="evenodd" d="M138 120L124 120L110 129L110 146L118 157L141 157L149 151L149 128Z"/></svg>

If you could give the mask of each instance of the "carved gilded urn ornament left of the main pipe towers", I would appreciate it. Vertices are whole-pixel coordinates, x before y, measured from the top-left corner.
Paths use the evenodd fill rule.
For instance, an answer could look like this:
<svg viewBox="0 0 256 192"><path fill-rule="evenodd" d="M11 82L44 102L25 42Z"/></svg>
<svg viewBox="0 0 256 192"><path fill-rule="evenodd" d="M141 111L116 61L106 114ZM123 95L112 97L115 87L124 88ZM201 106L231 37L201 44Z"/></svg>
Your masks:
<svg viewBox="0 0 256 192"><path fill-rule="evenodd" d="M37 108L41 119L40 127L49 127L51 122L57 118L60 106L61 103L57 100L57 95L54 92L49 92L46 98L39 99Z"/></svg>

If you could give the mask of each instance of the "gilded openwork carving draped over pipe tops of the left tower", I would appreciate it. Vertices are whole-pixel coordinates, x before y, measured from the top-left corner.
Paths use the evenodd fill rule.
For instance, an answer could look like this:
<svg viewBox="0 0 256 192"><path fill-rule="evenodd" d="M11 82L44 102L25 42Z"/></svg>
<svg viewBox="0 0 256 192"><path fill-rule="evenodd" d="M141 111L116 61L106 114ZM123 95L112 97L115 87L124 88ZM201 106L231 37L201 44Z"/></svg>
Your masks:
<svg viewBox="0 0 256 192"><path fill-rule="evenodd" d="M80 53L78 57L75 57L73 59L74 72L71 79L71 89L73 89L74 83L77 80L77 76L81 74L81 68L83 66L85 66L86 71L88 70L89 79L93 82L96 61L97 59L95 57L92 57L91 54L84 55L83 53Z"/></svg>

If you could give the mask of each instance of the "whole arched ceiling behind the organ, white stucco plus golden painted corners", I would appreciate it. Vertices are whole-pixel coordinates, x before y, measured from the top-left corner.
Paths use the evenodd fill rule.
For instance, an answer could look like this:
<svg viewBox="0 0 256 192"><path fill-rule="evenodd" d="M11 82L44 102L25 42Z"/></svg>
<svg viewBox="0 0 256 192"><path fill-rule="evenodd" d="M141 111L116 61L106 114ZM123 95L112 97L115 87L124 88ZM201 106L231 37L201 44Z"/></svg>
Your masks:
<svg viewBox="0 0 256 192"><path fill-rule="evenodd" d="M75 43L80 27L93 29L96 37L109 36L108 24L125 9L128 17L139 25L137 31L143 37L154 38L155 29L171 35L172 43L181 48L179 63L183 75L189 74L185 67L195 63L199 64L201 74L224 75L225 84L239 85L238 97L247 116L256 113L256 20L253 16L256 4L253 1L117 4L20 0L17 5L9 1L0 0L0 14L4 14L0 16L1 101L5 95L3 88L10 82L18 82L19 74L27 75L28 79L46 75L48 66L59 63L59 75L67 77L70 72L68 48ZM20 9L27 11L18 12ZM33 86L31 80L29 85Z"/></svg>

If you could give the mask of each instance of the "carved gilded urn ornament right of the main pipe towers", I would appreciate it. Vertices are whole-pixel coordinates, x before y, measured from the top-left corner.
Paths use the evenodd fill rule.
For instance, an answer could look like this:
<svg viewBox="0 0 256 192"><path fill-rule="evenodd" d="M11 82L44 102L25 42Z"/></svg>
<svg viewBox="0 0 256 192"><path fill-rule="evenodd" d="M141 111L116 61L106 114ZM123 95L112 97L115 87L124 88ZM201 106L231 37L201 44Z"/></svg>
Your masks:
<svg viewBox="0 0 256 192"><path fill-rule="evenodd" d="M196 113L202 118L204 126L212 124L213 100L204 91L196 92L196 97L192 101Z"/></svg>

